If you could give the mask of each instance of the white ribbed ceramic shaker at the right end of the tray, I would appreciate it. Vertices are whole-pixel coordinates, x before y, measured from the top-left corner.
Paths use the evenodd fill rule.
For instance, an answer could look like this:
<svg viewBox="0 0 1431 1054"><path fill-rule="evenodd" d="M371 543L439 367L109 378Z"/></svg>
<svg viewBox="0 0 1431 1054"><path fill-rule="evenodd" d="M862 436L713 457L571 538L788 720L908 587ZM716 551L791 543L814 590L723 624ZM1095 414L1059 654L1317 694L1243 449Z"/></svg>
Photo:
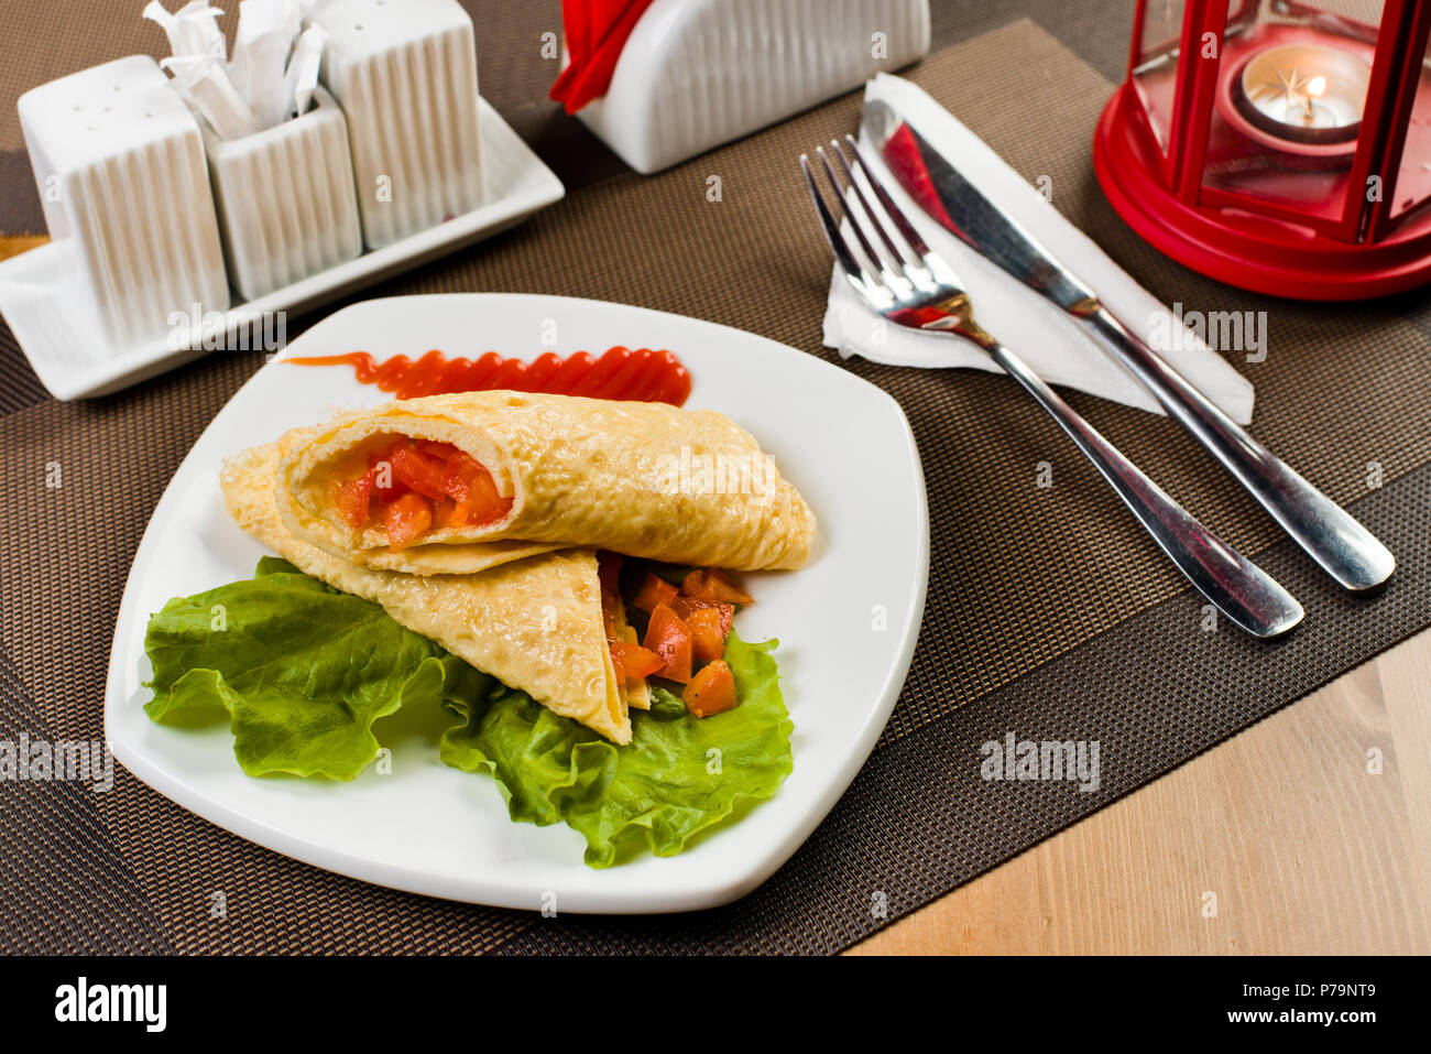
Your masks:
<svg viewBox="0 0 1431 1054"><path fill-rule="evenodd" d="M472 20L456 0L318 0L322 83L348 116L371 249L484 199Z"/></svg>

